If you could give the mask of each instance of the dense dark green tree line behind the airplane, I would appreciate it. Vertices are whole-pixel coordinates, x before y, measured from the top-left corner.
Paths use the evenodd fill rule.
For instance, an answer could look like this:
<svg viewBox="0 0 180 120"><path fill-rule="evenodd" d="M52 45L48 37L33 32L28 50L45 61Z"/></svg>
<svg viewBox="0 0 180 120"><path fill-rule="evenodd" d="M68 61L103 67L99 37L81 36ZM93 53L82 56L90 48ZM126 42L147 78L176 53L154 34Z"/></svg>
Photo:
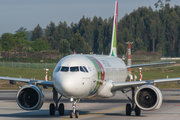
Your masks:
<svg viewBox="0 0 180 120"><path fill-rule="evenodd" d="M155 6L159 8L156 10L139 7L118 22L118 54L125 54L125 42L130 41L133 42L132 52L142 50L162 56L180 55L180 6L170 7L169 2L158 0ZM66 21L60 21L58 25L51 21L46 29L39 24L31 32L21 27L16 34L4 33L1 36L0 49L28 52L54 50L64 54L75 50L77 53L109 54L112 24L113 17L103 20L101 17L91 19L83 16L78 23L71 23L70 26Z"/></svg>

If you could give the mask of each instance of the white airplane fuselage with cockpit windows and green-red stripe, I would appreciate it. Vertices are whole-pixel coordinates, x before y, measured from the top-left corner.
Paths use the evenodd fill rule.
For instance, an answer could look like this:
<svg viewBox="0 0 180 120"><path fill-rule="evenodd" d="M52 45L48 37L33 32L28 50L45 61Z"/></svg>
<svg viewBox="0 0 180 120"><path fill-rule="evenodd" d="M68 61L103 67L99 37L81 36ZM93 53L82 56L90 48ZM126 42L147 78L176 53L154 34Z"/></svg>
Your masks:
<svg viewBox="0 0 180 120"><path fill-rule="evenodd" d="M105 55L69 55L57 63L53 72L55 89L68 98L112 97L114 93L106 89L126 78L125 63Z"/></svg>

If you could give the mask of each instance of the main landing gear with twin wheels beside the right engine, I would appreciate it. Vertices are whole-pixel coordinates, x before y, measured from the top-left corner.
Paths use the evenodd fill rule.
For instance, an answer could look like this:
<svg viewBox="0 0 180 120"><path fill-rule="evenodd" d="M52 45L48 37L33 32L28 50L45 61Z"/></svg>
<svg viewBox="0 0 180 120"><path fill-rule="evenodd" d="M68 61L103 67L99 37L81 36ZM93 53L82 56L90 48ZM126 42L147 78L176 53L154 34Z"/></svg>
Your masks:
<svg viewBox="0 0 180 120"><path fill-rule="evenodd" d="M129 96L126 94L127 92L129 91L124 91L124 90L121 90L124 95L129 99L129 101L131 102L131 104L126 104L126 115L127 116L130 116L131 115L131 112L134 111L135 112L135 115L136 116L140 116L141 115L141 109L136 105L135 107L135 101L134 101L134 91L135 91L135 87L132 87L132 99L129 98Z"/></svg>

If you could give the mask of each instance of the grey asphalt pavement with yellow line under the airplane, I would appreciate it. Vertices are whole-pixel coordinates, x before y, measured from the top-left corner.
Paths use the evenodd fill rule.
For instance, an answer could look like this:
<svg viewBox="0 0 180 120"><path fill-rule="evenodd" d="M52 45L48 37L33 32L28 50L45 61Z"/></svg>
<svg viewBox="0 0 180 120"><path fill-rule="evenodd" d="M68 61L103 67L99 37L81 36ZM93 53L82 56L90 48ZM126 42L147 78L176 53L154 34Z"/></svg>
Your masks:
<svg viewBox="0 0 180 120"><path fill-rule="evenodd" d="M17 91L0 91L0 120L67 120L72 103L68 99L62 98L65 105L65 115L59 116L58 112L54 116L49 115L49 104L53 102L52 92L44 91L45 103L40 110L25 111L19 108L16 103ZM160 109L153 111L142 111L141 116L125 115L126 103L128 99L121 92L116 96L103 100L81 100L77 104L80 120L178 120L180 119L180 89L162 90L163 104ZM130 93L129 93L130 95Z"/></svg>

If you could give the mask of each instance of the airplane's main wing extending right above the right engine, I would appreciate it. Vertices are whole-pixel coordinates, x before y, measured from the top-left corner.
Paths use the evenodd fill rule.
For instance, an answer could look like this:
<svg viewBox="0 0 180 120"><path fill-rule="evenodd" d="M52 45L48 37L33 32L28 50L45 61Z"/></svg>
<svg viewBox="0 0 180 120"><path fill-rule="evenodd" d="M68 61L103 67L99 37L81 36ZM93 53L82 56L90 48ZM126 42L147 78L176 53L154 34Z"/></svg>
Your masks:
<svg viewBox="0 0 180 120"><path fill-rule="evenodd" d="M132 82L114 82L111 91L122 90L125 88L137 87L141 85L149 85L154 83L167 83L167 82L177 82L180 81L179 78L168 78L168 79L155 79L155 80L145 80L145 81L132 81Z"/></svg>

